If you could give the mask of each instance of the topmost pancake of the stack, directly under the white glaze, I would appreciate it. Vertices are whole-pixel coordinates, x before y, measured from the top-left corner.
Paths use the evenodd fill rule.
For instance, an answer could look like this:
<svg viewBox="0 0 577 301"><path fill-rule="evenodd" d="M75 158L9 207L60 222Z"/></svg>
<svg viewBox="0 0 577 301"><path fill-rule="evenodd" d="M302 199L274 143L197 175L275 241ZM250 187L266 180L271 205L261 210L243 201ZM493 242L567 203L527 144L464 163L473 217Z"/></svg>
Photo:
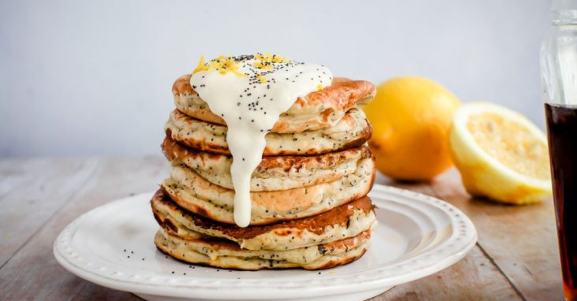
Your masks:
<svg viewBox="0 0 577 301"><path fill-rule="evenodd" d="M332 85L299 97L293 106L280 115L273 133L300 133L335 126L351 108L358 108L373 99L374 85L368 81L334 78ZM174 103L178 110L196 119L226 125L211 112L208 104L190 86L190 74L179 77L173 85Z"/></svg>

